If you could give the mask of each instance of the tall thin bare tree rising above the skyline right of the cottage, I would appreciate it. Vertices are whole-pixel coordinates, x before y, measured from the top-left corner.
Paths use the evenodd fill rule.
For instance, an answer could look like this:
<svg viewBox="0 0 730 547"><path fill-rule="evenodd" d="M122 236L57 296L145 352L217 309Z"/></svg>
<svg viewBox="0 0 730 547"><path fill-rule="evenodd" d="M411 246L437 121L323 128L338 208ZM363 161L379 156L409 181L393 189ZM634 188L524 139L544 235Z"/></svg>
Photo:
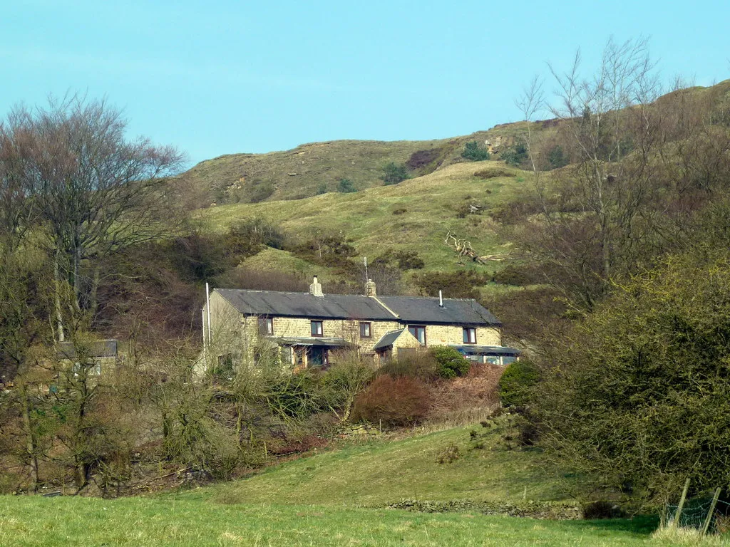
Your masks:
<svg viewBox="0 0 730 547"><path fill-rule="evenodd" d="M565 73L550 66L558 102L548 109L574 166L551 174L548 187L528 133L543 222L529 226L522 243L590 309L617 268L639 260L642 243L656 235L653 155L661 133L651 109L659 86L647 40L610 39L596 74L583 77L580 68L580 52ZM517 104L531 120L542 105L539 79Z"/></svg>

